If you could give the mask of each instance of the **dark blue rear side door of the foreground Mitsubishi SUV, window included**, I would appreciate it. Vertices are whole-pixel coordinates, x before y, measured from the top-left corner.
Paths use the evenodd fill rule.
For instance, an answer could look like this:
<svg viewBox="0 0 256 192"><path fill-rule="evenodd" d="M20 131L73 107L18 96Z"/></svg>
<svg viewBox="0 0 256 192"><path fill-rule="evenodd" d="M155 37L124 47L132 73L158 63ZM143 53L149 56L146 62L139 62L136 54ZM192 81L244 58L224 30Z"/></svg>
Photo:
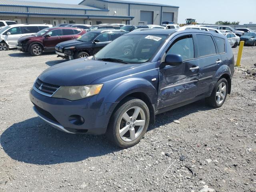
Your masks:
<svg viewBox="0 0 256 192"><path fill-rule="evenodd" d="M199 66L198 91L196 97L204 95L214 86L214 76L222 58L211 34L195 34L195 49L197 65Z"/></svg>

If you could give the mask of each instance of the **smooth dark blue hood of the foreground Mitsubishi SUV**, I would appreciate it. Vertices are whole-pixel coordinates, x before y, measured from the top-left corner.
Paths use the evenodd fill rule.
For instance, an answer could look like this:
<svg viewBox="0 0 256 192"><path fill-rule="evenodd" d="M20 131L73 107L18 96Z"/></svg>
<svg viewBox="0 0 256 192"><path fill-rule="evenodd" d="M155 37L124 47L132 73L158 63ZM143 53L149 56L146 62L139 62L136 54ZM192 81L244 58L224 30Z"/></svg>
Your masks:
<svg viewBox="0 0 256 192"><path fill-rule="evenodd" d="M52 66L42 72L38 78L43 82L58 86L90 85L98 78L137 65L139 64L122 64L80 58Z"/></svg>

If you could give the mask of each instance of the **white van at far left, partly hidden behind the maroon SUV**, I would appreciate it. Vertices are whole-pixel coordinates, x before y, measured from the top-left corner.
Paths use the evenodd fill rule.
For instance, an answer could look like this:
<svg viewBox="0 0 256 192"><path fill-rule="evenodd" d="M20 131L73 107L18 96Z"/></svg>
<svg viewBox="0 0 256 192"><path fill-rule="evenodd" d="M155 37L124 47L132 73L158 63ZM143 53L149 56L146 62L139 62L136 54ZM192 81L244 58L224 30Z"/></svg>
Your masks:
<svg viewBox="0 0 256 192"><path fill-rule="evenodd" d="M38 31L52 27L48 24L16 24L0 29L0 51L16 48L18 39L37 33Z"/></svg>

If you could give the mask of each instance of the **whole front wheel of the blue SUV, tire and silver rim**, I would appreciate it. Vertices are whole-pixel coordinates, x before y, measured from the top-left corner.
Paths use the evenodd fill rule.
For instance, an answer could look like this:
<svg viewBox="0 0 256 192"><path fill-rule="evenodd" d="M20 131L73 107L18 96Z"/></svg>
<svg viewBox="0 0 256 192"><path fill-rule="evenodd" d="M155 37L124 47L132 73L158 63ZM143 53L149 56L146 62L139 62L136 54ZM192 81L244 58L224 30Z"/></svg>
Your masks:
<svg viewBox="0 0 256 192"><path fill-rule="evenodd" d="M121 148L132 147L148 129L150 113L145 102L128 98L112 114L106 136Z"/></svg>

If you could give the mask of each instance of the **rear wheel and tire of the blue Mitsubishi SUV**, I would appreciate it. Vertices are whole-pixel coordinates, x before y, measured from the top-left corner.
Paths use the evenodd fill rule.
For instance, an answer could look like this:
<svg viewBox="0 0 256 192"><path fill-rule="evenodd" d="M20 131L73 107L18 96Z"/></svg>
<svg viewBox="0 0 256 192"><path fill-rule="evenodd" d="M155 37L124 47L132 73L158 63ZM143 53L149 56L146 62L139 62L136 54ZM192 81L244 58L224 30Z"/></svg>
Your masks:
<svg viewBox="0 0 256 192"><path fill-rule="evenodd" d="M215 84L211 96L206 98L206 103L214 108L219 108L224 104L227 94L228 81L225 78L221 78Z"/></svg>

